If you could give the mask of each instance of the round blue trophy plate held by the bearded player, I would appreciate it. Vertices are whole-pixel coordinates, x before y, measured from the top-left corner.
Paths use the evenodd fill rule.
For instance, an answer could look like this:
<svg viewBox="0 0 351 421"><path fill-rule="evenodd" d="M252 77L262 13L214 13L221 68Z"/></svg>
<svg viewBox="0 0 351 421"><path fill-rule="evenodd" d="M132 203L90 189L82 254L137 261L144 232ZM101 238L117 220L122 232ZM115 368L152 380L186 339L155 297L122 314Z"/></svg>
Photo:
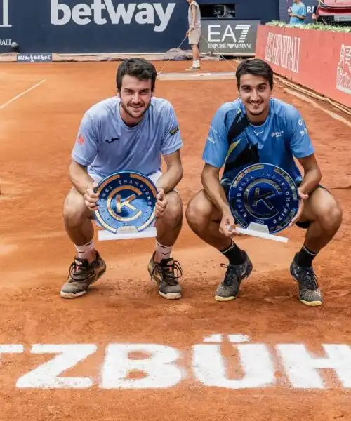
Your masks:
<svg viewBox="0 0 351 421"><path fill-rule="evenodd" d="M154 222L157 187L135 171L118 171L95 189L99 195L95 217L102 228L115 234L141 232Z"/></svg>

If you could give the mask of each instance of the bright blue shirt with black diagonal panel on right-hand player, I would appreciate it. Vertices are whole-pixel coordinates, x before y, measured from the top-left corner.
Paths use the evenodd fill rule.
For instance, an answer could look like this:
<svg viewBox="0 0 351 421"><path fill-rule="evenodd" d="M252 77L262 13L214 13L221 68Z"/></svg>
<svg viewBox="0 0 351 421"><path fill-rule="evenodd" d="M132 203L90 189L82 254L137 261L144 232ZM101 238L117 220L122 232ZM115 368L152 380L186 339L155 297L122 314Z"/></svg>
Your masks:
<svg viewBox="0 0 351 421"><path fill-rule="evenodd" d="M232 128L232 138L228 134ZM225 102L213 116L206 138L203 159L216 168L224 166L222 182L230 184L246 166L272 163L283 168L300 184L302 175L296 158L314 153L305 122L293 105L270 99L265 122L254 126L247 119L241 99Z"/></svg>

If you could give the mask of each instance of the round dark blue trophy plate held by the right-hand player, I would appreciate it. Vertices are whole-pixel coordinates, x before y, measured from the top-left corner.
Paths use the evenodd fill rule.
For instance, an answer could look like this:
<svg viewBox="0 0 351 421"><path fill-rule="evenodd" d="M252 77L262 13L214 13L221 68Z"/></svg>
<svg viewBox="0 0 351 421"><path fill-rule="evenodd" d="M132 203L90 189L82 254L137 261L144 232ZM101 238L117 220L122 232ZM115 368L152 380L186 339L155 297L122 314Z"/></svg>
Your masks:
<svg viewBox="0 0 351 421"><path fill-rule="evenodd" d="M270 234L286 228L298 212L298 189L278 166L257 163L241 171L230 185L228 201L241 227L261 224Z"/></svg>

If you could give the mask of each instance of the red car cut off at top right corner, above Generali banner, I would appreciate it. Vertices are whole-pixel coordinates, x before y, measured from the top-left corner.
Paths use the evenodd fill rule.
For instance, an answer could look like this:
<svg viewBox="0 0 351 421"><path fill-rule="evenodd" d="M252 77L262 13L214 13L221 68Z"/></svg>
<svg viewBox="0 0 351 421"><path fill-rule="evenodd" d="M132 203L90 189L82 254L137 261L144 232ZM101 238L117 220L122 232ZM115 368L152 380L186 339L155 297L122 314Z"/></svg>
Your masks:
<svg viewBox="0 0 351 421"><path fill-rule="evenodd" d="M351 0L319 0L316 18L325 25L351 26Z"/></svg>

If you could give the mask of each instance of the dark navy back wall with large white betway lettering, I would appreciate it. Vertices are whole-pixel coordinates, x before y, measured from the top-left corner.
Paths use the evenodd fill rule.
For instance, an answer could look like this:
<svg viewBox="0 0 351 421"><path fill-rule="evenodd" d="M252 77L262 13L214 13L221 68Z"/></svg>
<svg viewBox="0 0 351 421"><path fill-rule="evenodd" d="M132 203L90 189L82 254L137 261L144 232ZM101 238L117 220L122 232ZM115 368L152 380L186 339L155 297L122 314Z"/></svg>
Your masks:
<svg viewBox="0 0 351 421"><path fill-rule="evenodd" d="M279 19L278 0L234 3L236 19ZM186 0L0 0L0 53L14 41L20 53L162 53L185 38L187 8Z"/></svg>

